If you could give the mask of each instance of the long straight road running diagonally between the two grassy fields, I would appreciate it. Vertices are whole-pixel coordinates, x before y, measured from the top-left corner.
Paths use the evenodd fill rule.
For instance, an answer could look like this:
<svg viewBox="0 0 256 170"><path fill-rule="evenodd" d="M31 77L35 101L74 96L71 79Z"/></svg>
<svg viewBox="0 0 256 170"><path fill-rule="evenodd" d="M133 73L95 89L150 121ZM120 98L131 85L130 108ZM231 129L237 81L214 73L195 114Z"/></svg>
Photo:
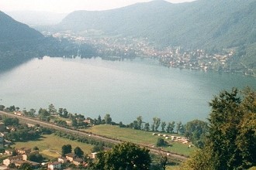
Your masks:
<svg viewBox="0 0 256 170"><path fill-rule="evenodd" d="M122 142L122 141L118 141L118 140L115 140L115 139L102 137L102 136L99 136L97 134L90 134L90 133L84 132L84 131L82 132L82 131L76 131L76 130L72 130L72 129L68 129L68 128L62 128L62 127L57 126L56 124L50 124L48 122L35 120L35 119L29 118L29 117L21 117L21 116L17 116L15 114L9 114L9 113L3 112L3 111L0 111L0 115L6 115L8 117L17 117L17 118L19 118L19 121L24 122L24 123L40 124L40 126L45 127L45 128L52 128L52 129L55 129L57 131L64 131L64 132L67 132L67 133L76 134L76 135L81 136L81 137L95 138L95 139L98 139L100 141L107 141L107 142L110 142L110 143L113 143L113 144L118 144L118 143ZM170 157L178 158L179 160L182 160L182 161L187 159L185 156L182 156L182 155L170 154L167 151L159 151L155 148L150 148L150 147L145 146L145 145L140 145L140 146L150 149L150 152L152 152L154 154L168 155Z"/></svg>

